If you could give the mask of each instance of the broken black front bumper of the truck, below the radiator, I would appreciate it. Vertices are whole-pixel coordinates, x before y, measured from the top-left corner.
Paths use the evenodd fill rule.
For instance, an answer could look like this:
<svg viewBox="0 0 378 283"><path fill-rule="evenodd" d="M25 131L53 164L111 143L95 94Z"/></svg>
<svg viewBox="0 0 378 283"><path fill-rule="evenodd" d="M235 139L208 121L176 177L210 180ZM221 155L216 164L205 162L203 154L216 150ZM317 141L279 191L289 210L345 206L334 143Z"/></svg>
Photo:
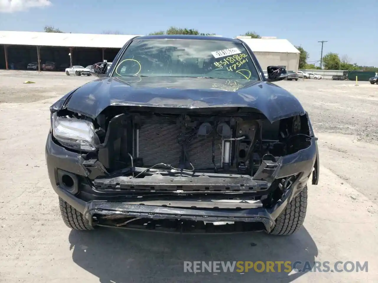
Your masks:
<svg viewBox="0 0 378 283"><path fill-rule="evenodd" d="M139 226L156 230L157 226L163 226L161 223L175 223L175 229L181 232L194 229L198 226L196 223L204 225L203 227L208 227L209 224L214 227L219 223L234 223L235 226L240 224L240 229L236 229L236 232L246 231L243 225L257 223L270 232L276 218L304 188L311 173L313 183L318 182L318 160L318 146L313 138L306 149L286 155L277 162L266 160L253 178L229 174L105 178L104 169L96 161L84 164L80 154L54 143L51 134L46 142L46 163L54 191L81 212L91 225L131 228L133 223L139 221ZM71 176L72 186L65 185L62 179L64 175ZM290 176L294 176L293 182L271 207L264 207L260 200L240 197L242 193L269 190L275 180ZM152 197L140 200L129 198L132 191L148 192ZM184 197L170 199L172 194ZM230 199L232 194L239 199ZM194 197L198 195L207 197ZM107 225L108 219L122 221ZM128 221L129 224L126 223Z"/></svg>

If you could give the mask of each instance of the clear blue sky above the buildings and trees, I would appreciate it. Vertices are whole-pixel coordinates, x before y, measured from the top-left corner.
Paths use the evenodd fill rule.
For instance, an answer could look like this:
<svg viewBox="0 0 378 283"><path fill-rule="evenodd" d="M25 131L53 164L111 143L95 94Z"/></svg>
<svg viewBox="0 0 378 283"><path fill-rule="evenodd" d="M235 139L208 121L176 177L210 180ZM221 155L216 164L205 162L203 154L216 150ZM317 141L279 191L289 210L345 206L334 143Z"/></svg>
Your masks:
<svg viewBox="0 0 378 283"><path fill-rule="evenodd" d="M8 0L9 1L9 0ZM351 63L378 66L378 1L352 0L0 0L0 30L148 34L170 26L225 37L246 31L286 38L310 53L347 55ZM364 3L364 4L363 4ZM375 5L373 5L375 3ZM5 7L8 5L8 7ZM319 62L315 62L319 65Z"/></svg>

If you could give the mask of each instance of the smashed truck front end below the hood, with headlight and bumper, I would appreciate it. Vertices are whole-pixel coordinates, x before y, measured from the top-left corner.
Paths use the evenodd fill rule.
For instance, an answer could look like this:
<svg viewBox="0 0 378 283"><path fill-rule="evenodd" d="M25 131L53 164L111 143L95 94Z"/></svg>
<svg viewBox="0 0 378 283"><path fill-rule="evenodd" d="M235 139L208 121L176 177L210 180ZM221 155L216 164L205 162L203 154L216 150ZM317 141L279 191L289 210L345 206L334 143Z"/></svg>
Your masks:
<svg viewBox="0 0 378 283"><path fill-rule="evenodd" d="M271 123L240 107L109 106L95 120L51 111L51 184L90 226L270 232L311 173L318 182L307 114Z"/></svg>

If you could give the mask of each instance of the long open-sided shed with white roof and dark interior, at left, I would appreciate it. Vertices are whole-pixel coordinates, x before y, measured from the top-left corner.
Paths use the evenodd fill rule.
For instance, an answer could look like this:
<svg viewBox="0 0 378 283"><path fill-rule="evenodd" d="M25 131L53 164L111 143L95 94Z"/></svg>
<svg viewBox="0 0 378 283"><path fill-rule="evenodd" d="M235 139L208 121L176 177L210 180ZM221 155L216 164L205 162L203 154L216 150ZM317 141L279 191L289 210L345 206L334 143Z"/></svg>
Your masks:
<svg viewBox="0 0 378 283"><path fill-rule="evenodd" d="M134 36L0 31L0 69L26 69L28 63L38 59L41 65L50 61L58 67L113 60Z"/></svg>

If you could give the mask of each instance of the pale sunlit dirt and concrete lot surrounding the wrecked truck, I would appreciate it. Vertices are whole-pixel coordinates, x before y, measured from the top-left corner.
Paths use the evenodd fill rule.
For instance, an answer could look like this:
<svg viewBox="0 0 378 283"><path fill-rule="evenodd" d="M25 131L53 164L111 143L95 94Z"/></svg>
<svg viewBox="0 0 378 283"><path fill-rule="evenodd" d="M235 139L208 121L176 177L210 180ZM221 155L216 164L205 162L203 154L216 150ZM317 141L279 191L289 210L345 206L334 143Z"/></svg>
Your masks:
<svg viewBox="0 0 378 283"><path fill-rule="evenodd" d="M23 84L26 80L33 84ZM304 226L264 233L78 232L60 218L45 165L49 106L93 77L0 71L0 282L377 282L378 86L277 83L296 95L319 137L318 186ZM368 261L368 272L184 273L183 261Z"/></svg>

